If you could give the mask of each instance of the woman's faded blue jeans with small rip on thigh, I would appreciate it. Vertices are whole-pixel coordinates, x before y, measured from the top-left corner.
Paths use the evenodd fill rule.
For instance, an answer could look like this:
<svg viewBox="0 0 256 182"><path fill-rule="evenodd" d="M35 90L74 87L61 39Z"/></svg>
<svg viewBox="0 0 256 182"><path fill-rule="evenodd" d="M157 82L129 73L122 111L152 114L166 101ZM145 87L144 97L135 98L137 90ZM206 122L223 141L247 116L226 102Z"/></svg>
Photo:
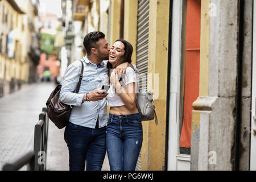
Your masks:
<svg viewBox="0 0 256 182"><path fill-rule="evenodd" d="M111 171L134 171L142 146L142 124L139 113L109 114L106 149Z"/></svg>

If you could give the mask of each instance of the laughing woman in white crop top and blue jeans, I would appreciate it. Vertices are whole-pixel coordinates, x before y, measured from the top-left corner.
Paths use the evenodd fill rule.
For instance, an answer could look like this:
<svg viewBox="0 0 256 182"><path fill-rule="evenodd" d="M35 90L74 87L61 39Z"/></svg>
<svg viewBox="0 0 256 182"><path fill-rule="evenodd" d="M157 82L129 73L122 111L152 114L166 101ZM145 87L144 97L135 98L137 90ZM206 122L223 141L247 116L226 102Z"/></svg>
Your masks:
<svg viewBox="0 0 256 182"><path fill-rule="evenodd" d="M136 107L136 73L127 67L122 79L115 70L110 74L119 64L131 63L132 53L133 46L126 40L116 40L109 52L107 98L110 111L106 149L112 171L134 171L142 146L141 115Z"/></svg>

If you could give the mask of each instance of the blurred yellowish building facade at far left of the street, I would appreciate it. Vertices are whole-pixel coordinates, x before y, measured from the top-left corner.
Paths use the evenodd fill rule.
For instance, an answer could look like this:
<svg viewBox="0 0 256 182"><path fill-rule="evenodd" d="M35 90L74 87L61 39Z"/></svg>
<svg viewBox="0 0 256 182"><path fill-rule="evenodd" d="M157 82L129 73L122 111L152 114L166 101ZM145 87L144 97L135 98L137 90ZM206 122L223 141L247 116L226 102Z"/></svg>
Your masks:
<svg viewBox="0 0 256 182"><path fill-rule="evenodd" d="M35 81L36 77L39 44L31 45L38 40L36 5L29 0L22 3L23 7L16 1L0 1L0 97Z"/></svg>

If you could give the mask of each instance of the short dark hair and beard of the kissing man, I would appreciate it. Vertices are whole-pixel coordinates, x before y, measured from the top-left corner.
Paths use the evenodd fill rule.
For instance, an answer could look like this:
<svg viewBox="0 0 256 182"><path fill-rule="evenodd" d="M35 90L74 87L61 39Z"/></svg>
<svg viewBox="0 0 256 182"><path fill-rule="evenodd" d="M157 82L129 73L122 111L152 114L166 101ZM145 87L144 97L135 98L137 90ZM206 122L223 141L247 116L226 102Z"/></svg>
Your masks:
<svg viewBox="0 0 256 182"><path fill-rule="evenodd" d="M92 53L92 48L98 48L97 42L98 39L101 38L105 38L105 34L102 32L90 32L89 34L85 35L83 44L88 56L90 56Z"/></svg>

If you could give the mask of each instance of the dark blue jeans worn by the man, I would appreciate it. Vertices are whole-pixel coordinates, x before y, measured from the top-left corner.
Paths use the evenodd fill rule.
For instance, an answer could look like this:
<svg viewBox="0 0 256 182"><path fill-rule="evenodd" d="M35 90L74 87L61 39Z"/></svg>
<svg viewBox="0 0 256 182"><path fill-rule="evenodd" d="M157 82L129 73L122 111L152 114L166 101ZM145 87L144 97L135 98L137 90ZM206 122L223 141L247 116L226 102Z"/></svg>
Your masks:
<svg viewBox="0 0 256 182"><path fill-rule="evenodd" d="M106 154L106 127L90 129L69 122L64 133L69 151L69 170L100 171Z"/></svg>

